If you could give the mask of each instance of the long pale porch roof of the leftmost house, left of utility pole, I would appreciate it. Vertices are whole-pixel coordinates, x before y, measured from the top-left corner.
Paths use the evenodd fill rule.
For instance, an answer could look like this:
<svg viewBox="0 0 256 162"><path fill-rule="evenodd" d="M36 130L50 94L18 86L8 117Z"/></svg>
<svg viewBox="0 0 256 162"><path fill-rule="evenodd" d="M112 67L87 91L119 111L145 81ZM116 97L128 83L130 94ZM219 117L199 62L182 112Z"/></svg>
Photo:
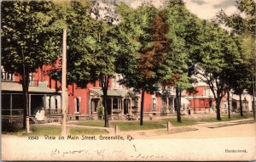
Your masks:
<svg viewBox="0 0 256 162"><path fill-rule="evenodd" d="M22 85L18 82L1 82L1 90L9 92L22 92ZM29 87L28 92L55 93L55 89L49 87Z"/></svg>

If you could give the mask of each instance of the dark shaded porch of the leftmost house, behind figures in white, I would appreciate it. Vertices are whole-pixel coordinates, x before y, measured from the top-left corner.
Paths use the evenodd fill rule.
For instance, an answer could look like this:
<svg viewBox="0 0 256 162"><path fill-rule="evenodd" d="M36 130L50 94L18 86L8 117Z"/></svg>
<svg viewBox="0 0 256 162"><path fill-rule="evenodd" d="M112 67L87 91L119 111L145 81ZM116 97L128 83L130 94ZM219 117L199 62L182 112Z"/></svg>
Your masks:
<svg viewBox="0 0 256 162"><path fill-rule="evenodd" d="M20 123L24 115L22 87L18 82L2 82L1 85L2 121ZM35 117L38 110L42 109L45 110L45 115L61 115L61 93L42 84L29 87L27 115Z"/></svg>

